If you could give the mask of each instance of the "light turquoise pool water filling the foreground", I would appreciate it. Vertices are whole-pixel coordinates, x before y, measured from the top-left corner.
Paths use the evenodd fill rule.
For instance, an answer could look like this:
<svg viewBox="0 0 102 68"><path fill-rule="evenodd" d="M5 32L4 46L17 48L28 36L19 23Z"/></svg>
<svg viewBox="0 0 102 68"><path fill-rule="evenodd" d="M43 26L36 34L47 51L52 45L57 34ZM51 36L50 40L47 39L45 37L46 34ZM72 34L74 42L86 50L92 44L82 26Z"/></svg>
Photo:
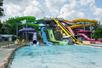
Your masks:
<svg viewBox="0 0 102 68"><path fill-rule="evenodd" d="M10 68L102 68L102 48L26 46L15 52Z"/></svg>

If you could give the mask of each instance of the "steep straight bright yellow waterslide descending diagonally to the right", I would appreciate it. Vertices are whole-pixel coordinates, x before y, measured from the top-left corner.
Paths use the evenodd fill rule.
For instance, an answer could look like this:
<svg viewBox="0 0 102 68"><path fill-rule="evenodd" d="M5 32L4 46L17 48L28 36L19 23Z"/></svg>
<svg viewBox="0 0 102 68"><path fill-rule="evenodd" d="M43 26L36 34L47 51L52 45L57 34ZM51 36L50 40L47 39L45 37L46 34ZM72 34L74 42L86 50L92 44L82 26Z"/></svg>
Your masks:
<svg viewBox="0 0 102 68"><path fill-rule="evenodd" d="M68 31L64 26L63 26L63 24L62 23L60 23L58 20L56 20L55 18L52 18L54 21L55 21L55 23L65 32L65 34L67 35L67 36L70 36L70 38L72 39L72 41L74 42L74 43L76 43L76 44L81 44L81 42L78 40L78 39L76 39L71 33L70 33L70 31Z"/></svg>

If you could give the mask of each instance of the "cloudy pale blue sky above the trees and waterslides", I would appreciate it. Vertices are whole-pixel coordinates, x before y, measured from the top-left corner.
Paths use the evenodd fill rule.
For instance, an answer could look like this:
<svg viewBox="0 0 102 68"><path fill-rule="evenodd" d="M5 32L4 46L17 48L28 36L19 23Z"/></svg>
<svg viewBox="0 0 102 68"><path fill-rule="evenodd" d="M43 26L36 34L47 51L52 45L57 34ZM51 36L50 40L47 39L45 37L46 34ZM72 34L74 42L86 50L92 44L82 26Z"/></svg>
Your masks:
<svg viewBox="0 0 102 68"><path fill-rule="evenodd" d="M89 18L102 21L102 0L4 0L2 19L15 16Z"/></svg>

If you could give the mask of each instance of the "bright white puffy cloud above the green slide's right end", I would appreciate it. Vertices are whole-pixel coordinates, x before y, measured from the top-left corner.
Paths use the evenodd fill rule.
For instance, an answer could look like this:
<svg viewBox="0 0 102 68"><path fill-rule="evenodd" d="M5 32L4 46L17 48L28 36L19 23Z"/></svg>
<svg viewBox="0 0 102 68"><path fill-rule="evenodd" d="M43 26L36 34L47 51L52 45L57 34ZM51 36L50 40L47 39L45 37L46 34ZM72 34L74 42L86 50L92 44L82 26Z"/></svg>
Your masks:
<svg viewBox="0 0 102 68"><path fill-rule="evenodd" d="M36 0L32 1L30 5L26 6L23 15L30 15L30 16L36 16L41 17L44 16L42 10L39 7L40 3Z"/></svg>

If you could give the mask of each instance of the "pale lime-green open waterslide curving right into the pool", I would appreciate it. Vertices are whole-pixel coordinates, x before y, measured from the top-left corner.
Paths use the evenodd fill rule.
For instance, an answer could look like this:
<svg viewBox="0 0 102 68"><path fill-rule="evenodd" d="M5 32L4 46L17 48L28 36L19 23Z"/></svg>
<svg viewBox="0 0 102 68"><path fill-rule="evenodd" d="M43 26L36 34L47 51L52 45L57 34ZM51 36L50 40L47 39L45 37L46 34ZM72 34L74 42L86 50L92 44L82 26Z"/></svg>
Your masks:
<svg viewBox="0 0 102 68"><path fill-rule="evenodd" d="M54 42L54 43L59 43L61 45L68 44L68 42L65 40L63 41L56 40L52 29L47 29L47 31L48 31L49 41Z"/></svg>

